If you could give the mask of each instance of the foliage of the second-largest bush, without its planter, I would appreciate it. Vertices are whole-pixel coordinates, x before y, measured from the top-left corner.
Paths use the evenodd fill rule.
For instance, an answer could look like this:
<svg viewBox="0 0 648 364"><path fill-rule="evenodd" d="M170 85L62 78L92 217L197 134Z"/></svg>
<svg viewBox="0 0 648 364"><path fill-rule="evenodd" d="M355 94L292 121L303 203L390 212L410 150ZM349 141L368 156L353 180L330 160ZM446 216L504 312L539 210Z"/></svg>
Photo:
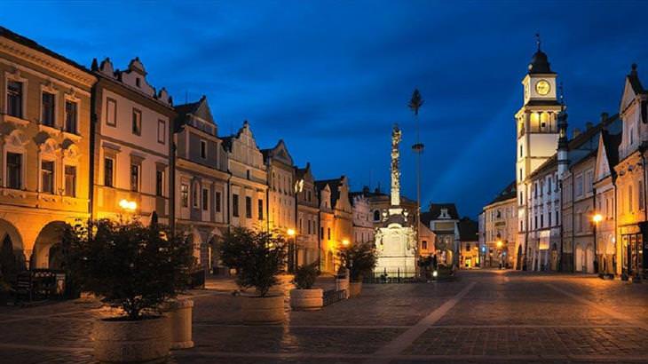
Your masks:
<svg viewBox="0 0 648 364"><path fill-rule="evenodd" d="M281 234L234 227L223 236L220 258L236 270L240 287L254 287L258 296L265 297L285 265L286 240Z"/></svg>

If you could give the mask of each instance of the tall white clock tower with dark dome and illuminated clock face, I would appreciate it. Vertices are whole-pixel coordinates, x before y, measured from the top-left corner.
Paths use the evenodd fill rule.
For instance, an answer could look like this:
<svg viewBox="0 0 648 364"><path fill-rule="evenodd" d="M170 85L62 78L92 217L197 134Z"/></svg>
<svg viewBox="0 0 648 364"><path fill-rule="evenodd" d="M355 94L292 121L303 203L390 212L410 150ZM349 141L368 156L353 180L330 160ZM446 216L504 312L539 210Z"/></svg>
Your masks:
<svg viewBox="0 0 648 364"><path fill-rule="evenodd" d="M522 80L524 102L515 115L517 125L516 180L518 186L518 232L528 231L526 203L531 187L526 178L540 165L556 154L558 138L558 114L562 105L557 99L556 76L549 67L547 54L538 50ZM524 241L525 238L521 241Z"/></svg>

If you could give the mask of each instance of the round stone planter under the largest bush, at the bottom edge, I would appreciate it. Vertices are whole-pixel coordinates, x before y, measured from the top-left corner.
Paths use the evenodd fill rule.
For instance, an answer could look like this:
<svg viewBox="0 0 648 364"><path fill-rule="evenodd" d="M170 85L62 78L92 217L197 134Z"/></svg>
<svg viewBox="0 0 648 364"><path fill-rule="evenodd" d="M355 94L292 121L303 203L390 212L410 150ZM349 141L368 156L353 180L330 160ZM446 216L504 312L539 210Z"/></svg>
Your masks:
<svg viewBox="0 0 648 364"><path fill-rule="evenodd" d="M170 323L164 316L97 320L92 336L95 359L102 362L156 362L169 356Z"/></svg>

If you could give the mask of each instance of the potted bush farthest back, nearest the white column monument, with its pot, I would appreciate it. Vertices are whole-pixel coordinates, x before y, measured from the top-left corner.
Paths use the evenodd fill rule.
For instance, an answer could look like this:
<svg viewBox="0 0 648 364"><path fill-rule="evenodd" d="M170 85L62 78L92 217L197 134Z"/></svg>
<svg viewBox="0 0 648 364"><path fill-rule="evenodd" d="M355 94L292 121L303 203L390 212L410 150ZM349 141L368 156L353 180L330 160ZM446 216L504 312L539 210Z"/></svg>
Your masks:
<svg viewBox="0 0 648 364"><path fill-rule="evenodd" d="M343 265L349 270L350 297L360 296L362 291L362 277L370 274L375 268L377 257L374 245L371 242L359 242L344 249L340 249L338 256Z"/></svg>

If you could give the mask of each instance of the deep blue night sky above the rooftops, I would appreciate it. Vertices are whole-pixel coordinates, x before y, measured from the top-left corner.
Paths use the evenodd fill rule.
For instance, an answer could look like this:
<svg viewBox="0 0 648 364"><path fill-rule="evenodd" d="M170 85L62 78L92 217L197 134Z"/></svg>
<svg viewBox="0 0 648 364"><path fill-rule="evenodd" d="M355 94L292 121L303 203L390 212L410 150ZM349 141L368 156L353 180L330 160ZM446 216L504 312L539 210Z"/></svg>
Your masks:
<svg viewBox="0 0 648 364"><path fill-rule="evenodd" d="M283 138L297 165L345 174L354 190L389 190L398 122L413 199L407 101L418 87L423 205L456 202L473 218L515 178L513 115L536 33L564 83L570 129L618 112L633 62L648 83L648 2L182 4L4 2L0 25L87 67L138 56L176 104L207 95L220 136L247 119L262 148Z"/></svg>

